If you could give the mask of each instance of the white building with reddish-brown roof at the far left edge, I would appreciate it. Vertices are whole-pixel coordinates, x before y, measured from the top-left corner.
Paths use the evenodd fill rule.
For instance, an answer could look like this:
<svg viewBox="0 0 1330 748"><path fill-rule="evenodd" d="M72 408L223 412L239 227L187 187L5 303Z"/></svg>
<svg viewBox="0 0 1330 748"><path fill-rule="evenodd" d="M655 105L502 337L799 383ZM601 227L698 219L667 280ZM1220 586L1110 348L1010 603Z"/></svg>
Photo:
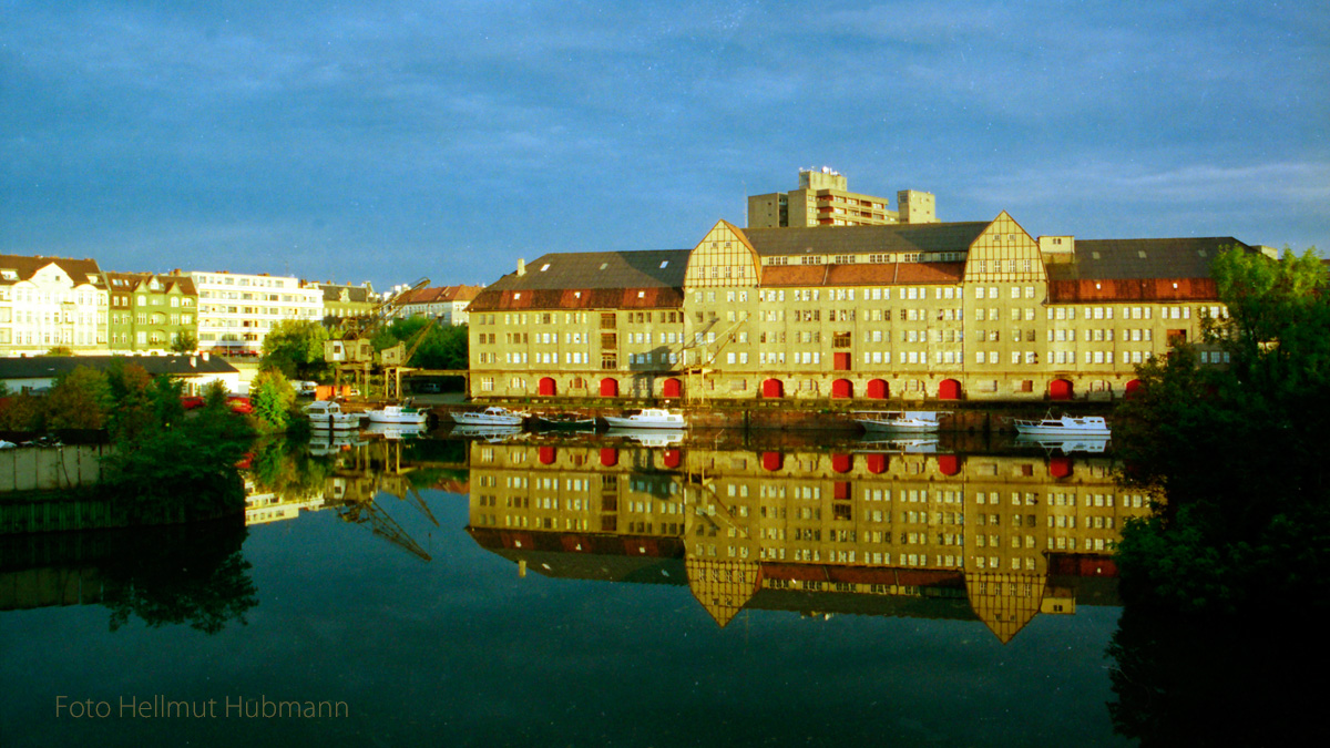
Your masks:
<svg viewBox="0 0 1330 748"><path fill-rule="evenodd" d="M0 254L0 355L105 350L106 302L94 260Z"/></svg>

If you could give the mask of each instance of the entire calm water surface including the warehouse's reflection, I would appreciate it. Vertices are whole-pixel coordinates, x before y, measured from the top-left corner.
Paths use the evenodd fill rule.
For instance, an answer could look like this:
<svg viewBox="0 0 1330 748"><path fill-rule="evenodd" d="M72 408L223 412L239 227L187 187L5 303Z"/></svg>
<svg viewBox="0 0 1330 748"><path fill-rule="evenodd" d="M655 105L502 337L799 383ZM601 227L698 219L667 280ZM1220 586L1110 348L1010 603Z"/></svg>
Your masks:
<svg viewBox="0 0 1330 748"><path fill-rule="evenodd" d="M0 744L1125 743L1093 518L1138 510L1095 458L932 449L379 443L243 536L11 548ZM158 696L205 716L122 705ZM265 700L346 713L243 716Z"/></svg>

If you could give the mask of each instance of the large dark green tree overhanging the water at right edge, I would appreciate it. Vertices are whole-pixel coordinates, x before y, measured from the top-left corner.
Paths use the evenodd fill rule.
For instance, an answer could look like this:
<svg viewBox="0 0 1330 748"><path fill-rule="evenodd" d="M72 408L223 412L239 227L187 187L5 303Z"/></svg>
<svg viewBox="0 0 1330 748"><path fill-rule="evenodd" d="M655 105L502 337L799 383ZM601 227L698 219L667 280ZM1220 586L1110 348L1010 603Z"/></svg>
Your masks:
<svg viewBox="0 0 1330 748"><path fill-rule="evenodd" d="M1330 295L1310 252L1230 250L1213 266L1229 317L1206 342L1138 367L1119 410L1125 479L1162 498L1119 546L1124 596L1180 611L1330 603Z"/></svg>

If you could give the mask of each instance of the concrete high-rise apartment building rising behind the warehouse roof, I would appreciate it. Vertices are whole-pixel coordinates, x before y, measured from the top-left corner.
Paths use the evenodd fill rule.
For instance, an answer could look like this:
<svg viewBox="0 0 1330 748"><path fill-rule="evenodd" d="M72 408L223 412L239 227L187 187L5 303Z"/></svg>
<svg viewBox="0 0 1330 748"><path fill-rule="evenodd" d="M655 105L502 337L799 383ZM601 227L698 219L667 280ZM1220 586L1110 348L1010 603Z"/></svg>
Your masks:
<svg viewBox="0 0 1330 748"><path fill-rule="evenodd" d="M798 189L749 196L747 225L750 229L883 226L938 220L931 193L900 190L892 210L886 197L849 192L847 186L845 174L826 166L802 170Z"/></svg>

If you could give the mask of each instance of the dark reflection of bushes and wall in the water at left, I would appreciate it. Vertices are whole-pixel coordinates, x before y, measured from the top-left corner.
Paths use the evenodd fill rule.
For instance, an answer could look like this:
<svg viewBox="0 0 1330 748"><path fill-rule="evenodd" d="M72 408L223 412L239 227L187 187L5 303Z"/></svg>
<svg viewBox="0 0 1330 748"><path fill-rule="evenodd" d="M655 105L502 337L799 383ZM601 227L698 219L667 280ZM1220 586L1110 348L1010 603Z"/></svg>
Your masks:
<svg viewBox="0 0 1330 748"><path fill-rule="evenodd" d="M217 634L258 604L235 522L0 539L0 610L100 604L110 630L188 624Z"/></svg>

